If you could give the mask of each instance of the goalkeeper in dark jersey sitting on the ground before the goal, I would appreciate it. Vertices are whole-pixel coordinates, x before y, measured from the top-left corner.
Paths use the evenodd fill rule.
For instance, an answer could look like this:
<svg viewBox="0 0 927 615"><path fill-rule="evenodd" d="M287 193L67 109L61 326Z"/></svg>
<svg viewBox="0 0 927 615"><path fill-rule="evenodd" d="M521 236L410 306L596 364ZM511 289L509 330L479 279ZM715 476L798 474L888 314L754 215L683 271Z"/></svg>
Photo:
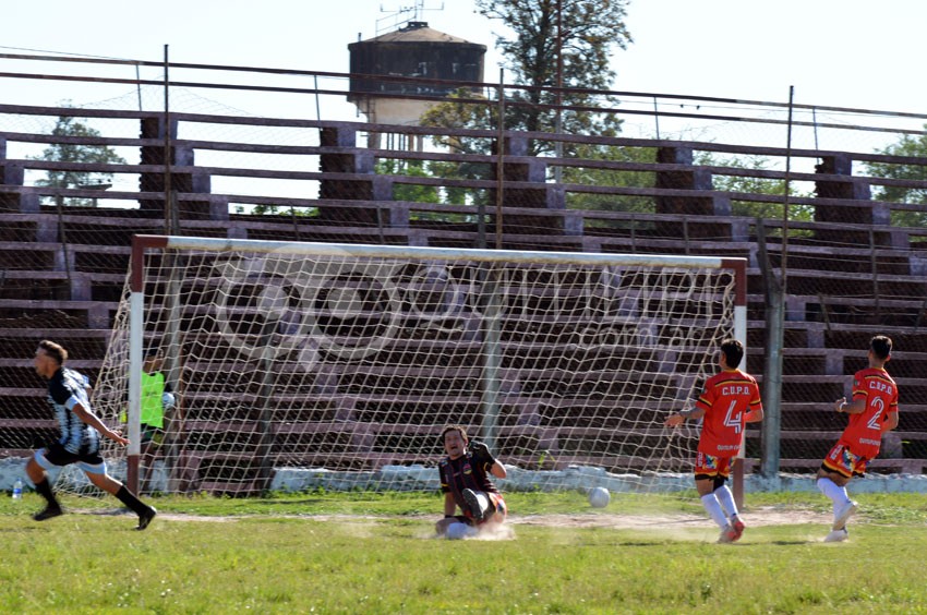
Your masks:
<svg viewBox="0 0 927 615"><path fill-rule="evenodd" d="M444 427L441 439L447 457L438 463L444 493L444 519L435 526L438 535L473 535L478 530L505 521L505 501L490 480L490 474L504 479L505 466L492 456L485 444L470 444L461 425ZM457 508L462 515L455 515Z"/></svg>

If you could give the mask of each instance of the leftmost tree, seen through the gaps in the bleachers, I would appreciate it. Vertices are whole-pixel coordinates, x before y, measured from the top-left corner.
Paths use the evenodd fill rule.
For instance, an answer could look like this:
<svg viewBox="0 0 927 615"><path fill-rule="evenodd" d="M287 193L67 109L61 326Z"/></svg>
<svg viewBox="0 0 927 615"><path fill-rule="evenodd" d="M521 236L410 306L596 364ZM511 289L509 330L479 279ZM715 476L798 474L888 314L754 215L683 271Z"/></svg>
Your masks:
<svg viewBox="0 0 927 615"><path fill-rule="evenodd" d="M62 137L98 137L100 133L77 119L70 116L61 116L51 131L52 136ZM84 145L69 143L67 141L52 143L46 147L40 156L32 157L33 160L48 160L52 162L79 162L79 164L106 164L124 165L125 160L106 145ZM99 186L110 182L112 173L96 171L56 171L49 170L44 179L37 180L36 185L49 188L83 188ZM73 206L95 206L95 198L56 198L59 204Z"/></svg>

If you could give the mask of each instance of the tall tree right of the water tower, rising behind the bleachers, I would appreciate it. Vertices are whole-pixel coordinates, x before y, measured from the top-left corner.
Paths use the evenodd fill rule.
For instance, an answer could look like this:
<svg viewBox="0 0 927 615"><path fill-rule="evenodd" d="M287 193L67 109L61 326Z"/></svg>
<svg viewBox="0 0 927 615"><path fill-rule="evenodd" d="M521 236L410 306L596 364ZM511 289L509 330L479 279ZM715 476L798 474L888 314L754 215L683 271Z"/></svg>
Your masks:
<svg viewBox="0 0 927 615"><path fill-rule="evenodd" d="M611 52L614 48L624 49L631 41L624 24L626 4L627 0L477 0L480 13L501 20L515 35L513 38L496 37L496 46L509 71L506 81L525 86L506 91L507 130L556 132L557 102L566 107L617 105L617 100L592 91L611 86L615 76L609 68ZM557 85L576 91L563 92L558 97L553 89ZM460 89L449 98L429 110L420 123L454 130L494 130L498 126L495 102L469 89ZM561 132L567 134L613 136L621 125L609 112L585 110L564 110L559 120ZM483 155L491 154L494 144L490 137L436 136L434 142L454 153ZM554 141L550 140L534 140L529 147L529 155L550 154L556 149ZM565 143L559 154L623 159L627 153L621 148ZM443 172L444 177L453 179L492 179L491 165L482 162L433 165L429 171ZM627 184L621 179L616 181L615 185ZM443 197L452 203L485 204L490 195L480 190L448 189L443 191Z"/></svg>

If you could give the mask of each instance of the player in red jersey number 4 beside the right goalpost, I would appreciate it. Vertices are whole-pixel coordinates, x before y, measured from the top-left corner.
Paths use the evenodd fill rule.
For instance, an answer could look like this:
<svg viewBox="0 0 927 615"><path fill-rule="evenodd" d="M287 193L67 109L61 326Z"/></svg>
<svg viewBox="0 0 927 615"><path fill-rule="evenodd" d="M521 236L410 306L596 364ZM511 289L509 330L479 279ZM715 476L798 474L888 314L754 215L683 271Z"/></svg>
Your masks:
<svg viewBox="0 0 927 615"><path fill-rule="evenodd" d="M724 482L731 474L732 460L741 451L744 424L762 420L757 381L737 369L743 358L744 346L739 341L724 340L718 359L721 372L705 383L695 408L671 414L665 423L675 427L686 419L703 419L695 481L702 506L721 528L718 542L734 542L744 533L734 494Z"/></svg>

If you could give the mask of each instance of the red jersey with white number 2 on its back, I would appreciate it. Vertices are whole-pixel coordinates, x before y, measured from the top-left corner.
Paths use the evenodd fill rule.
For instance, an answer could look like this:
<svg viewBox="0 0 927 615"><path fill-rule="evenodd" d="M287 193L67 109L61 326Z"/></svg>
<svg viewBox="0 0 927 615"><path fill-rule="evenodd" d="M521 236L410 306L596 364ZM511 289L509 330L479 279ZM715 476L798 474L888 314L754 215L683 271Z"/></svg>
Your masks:
<svg viewBox="0 0 927 615"><path fill-rule="evenodd" d="M881 367L859 370L853 376L853 400L865 399L866 409L850 414L840 442L857 457L875 459L882 443L882 423L898 412L898 385Z"/></svg>

